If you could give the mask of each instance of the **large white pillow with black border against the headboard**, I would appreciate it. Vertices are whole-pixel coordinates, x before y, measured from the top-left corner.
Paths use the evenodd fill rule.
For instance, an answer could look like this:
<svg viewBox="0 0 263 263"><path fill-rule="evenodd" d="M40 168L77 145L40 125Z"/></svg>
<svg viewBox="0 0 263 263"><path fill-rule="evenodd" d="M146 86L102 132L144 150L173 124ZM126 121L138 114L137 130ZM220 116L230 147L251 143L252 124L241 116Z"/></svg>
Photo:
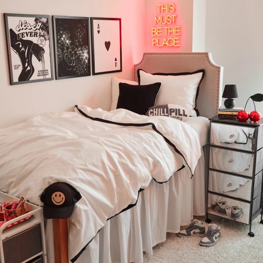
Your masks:
<svg viewBox="0 0 263 263"><path fill-rule="evenodd" d="M190 116L198 116L196 99L199 85L204 77L205 70L186 73L146 73L138 69L140 85L161 82L161 88L156 98L155 105L176 104L188 110Z"/></svg>

